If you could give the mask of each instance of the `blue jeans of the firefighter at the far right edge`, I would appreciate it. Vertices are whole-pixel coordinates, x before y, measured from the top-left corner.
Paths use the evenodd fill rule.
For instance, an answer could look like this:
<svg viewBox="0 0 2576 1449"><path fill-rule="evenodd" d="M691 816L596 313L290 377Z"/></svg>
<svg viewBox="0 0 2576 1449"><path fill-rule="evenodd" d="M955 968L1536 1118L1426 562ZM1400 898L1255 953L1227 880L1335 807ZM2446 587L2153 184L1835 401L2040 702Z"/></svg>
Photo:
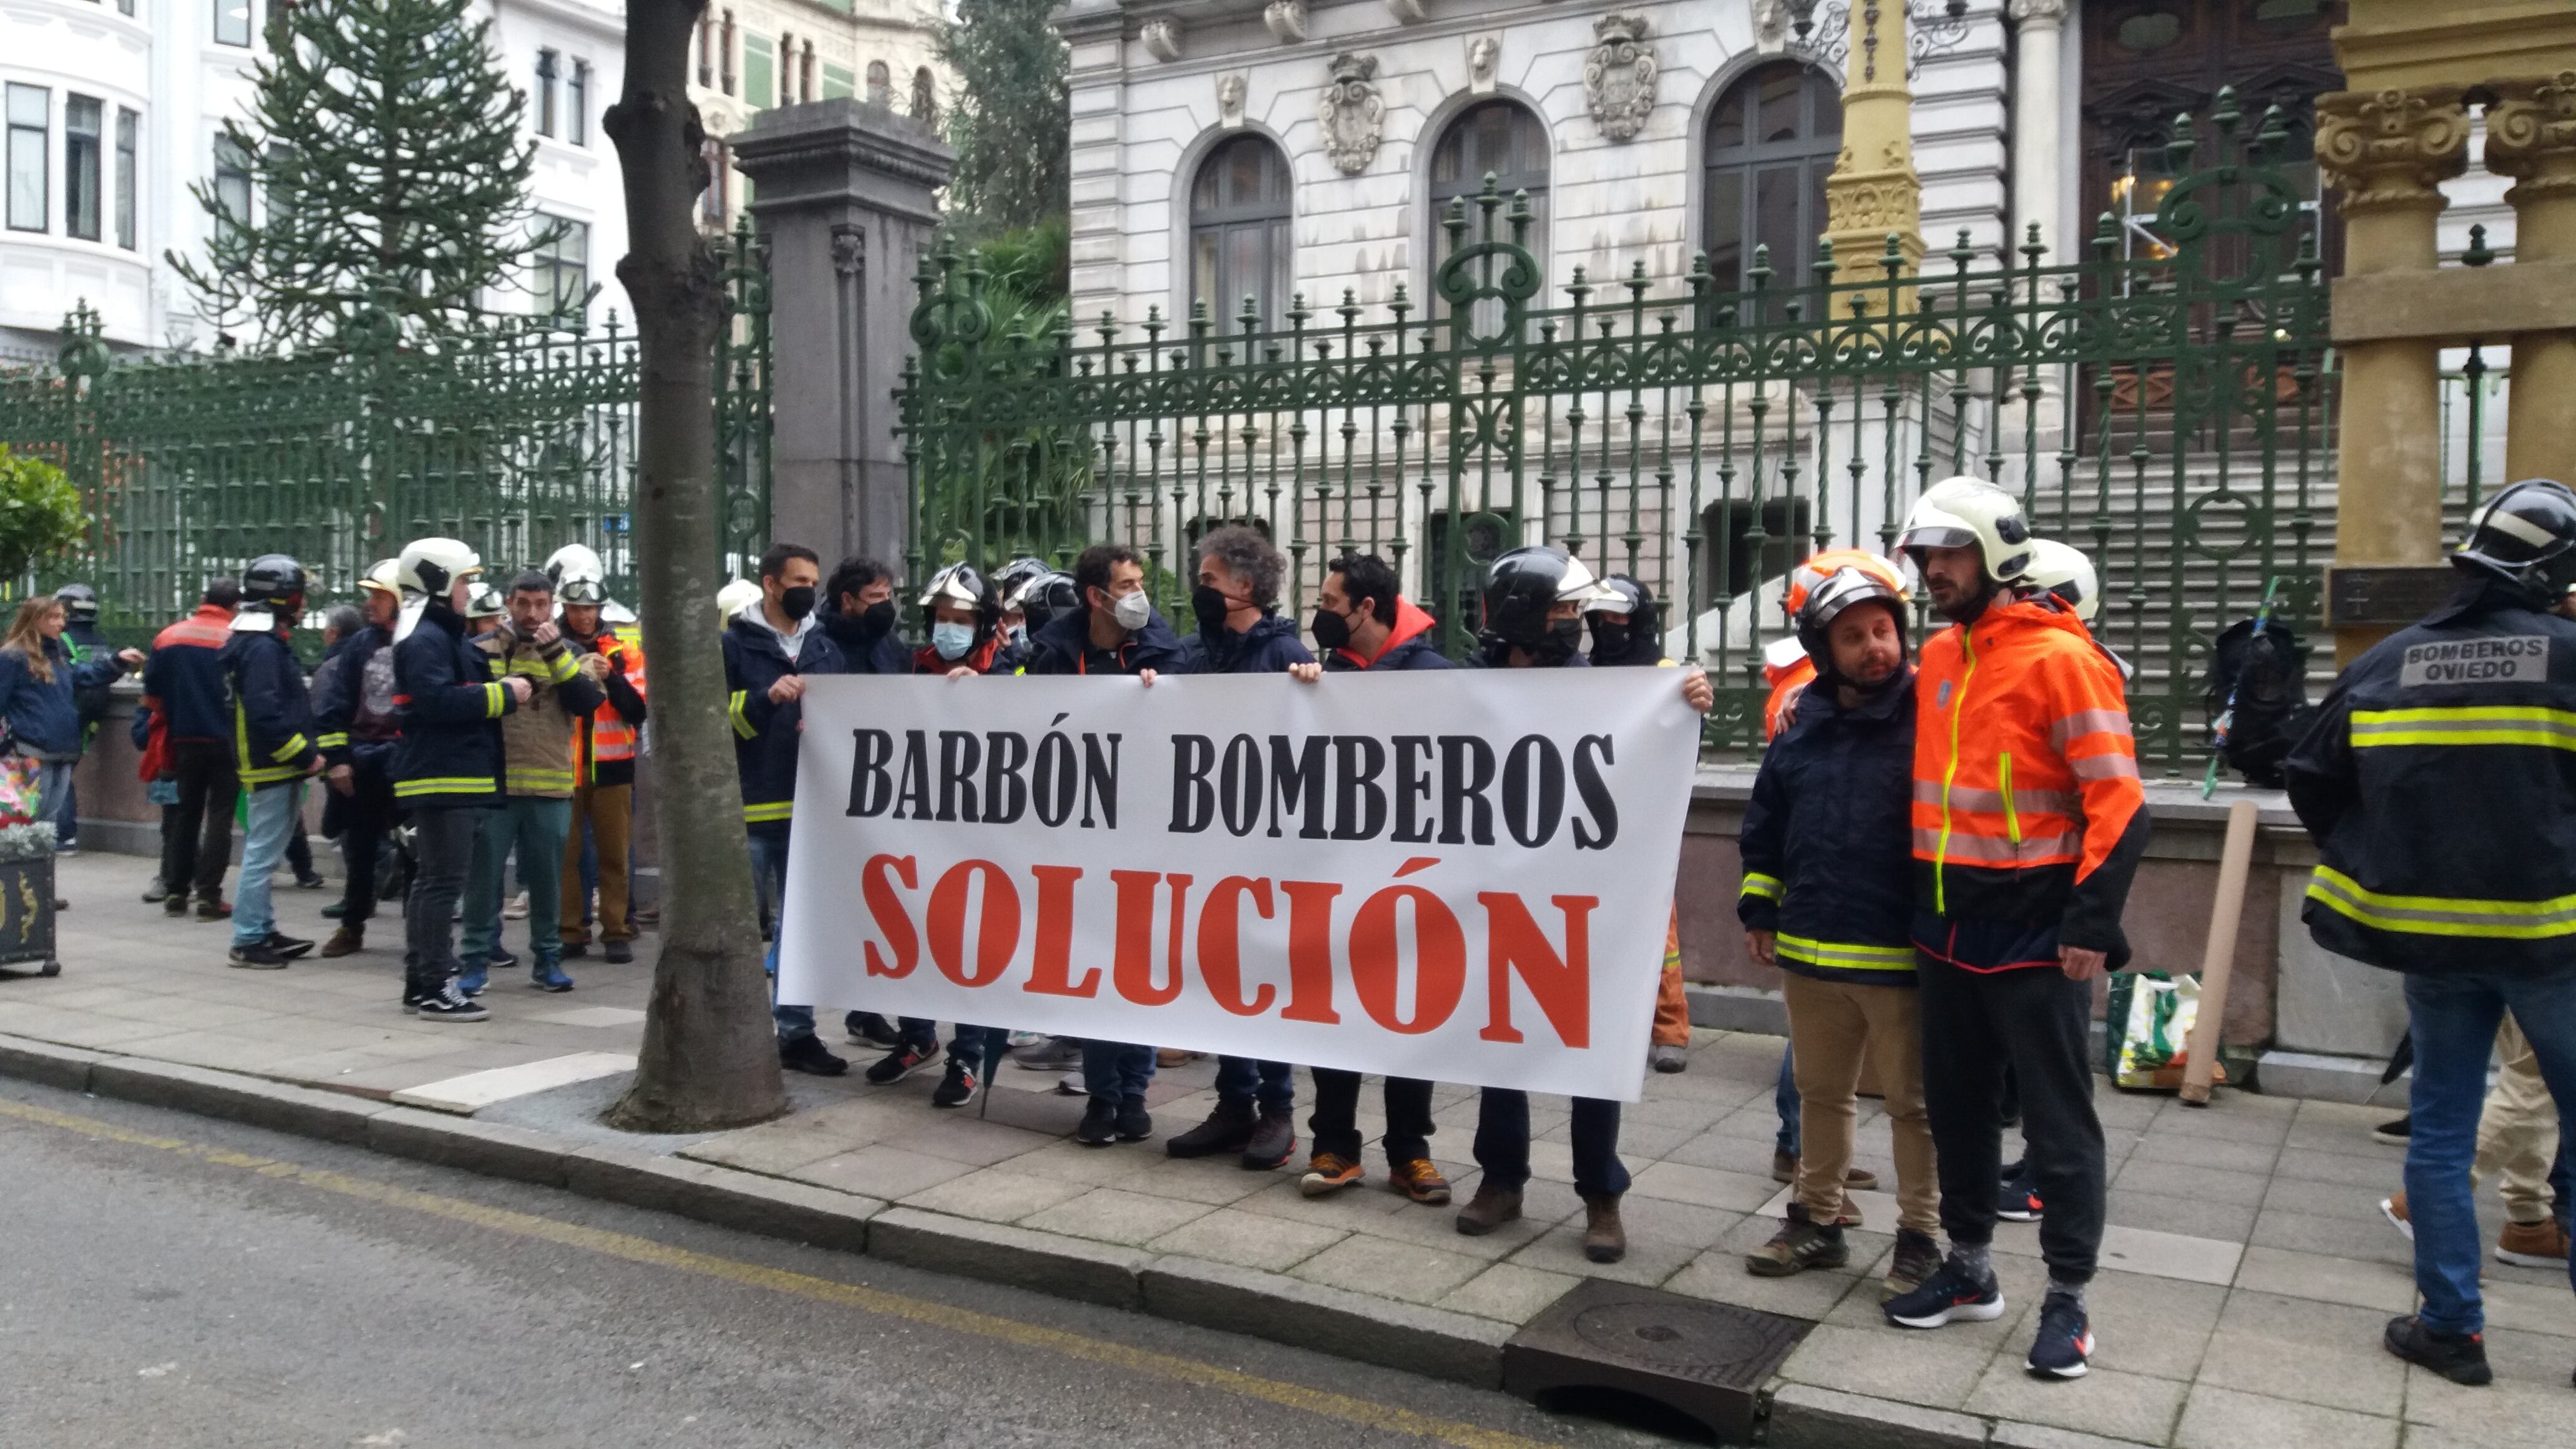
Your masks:
<svg viewBox="0 0 2576 1449"><path fill-rule="evenodd" d="M2514 1013L2561 1114L2576 1106L2576 969L2550 975L2406 972L2406 1021L2416 1075L2406 1137L2406 1217L2416 1238L2424 1328L2483 1333L2478 1299L2478 1209L2468 1163L2478 1155L2478 1109L2496 1026ZM2568 1263L2576 1281L2576 1261Z"/></svg>

